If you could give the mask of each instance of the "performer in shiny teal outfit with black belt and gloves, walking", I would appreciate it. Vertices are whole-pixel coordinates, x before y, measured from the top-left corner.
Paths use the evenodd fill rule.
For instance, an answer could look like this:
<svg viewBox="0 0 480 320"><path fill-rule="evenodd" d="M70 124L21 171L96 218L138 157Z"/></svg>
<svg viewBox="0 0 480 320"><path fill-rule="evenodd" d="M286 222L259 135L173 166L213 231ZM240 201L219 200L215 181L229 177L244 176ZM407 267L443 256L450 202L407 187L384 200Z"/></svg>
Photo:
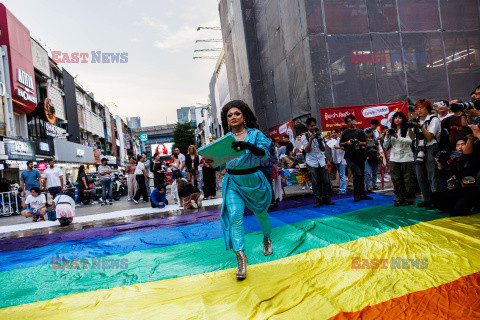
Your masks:
<svg viewBox="0 0 480 320"><path fill-rule="evenodd" d="M270 218L267 213L272 200L272 189L260 170L260 161L269 156L270 140L258 130L257 118L241 100L227 103L222 109L221 119L224 132L235 139L232 148L237 151L245 150L245 154L226 164L220 219L226 248L233 249L237 256L236 277L243 280L247 276L248 263L244 252L245 206L255 214L262 229L264 255L273 253Z"/></svg>

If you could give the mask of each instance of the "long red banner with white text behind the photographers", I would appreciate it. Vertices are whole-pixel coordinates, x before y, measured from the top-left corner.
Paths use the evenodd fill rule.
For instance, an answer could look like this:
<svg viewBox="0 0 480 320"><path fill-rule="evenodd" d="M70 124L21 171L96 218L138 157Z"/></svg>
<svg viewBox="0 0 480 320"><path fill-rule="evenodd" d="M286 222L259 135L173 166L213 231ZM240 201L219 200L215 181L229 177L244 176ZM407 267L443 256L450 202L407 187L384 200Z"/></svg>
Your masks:
<svg viewBox="0 0 480 320"><path fill-rule="evenodd" d="M355 116L357 127L368 128L370 121L377 119L382 126L388 126L393 114L397 111L405 113L408 118L408 105L406 101L381 104L367 104L363 106L336 107L320 109L322 130L331 131L340 129L345 124L345 117L349 114Z"/></svg>

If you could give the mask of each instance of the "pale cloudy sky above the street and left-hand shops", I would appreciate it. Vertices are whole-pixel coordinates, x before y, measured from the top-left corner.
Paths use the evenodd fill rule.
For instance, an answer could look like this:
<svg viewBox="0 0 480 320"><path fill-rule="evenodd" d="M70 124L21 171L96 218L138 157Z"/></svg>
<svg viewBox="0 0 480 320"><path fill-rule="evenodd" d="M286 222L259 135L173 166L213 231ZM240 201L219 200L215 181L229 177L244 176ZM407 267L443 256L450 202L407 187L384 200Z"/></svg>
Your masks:
<svg viewBox="0 0 480 320"><path fill-rule="evenodd" d="M216 60L193 60L193 50L221 48L217 0L0 1L45 49L128 53L127 63L63 63L100 103L142 126L177 121L176 109L207 104ZM218 52L213 52L218 56ZM199 55L199 54L197 54ZM210 54L211 55L211 54ZM88 59L89 61L91 58Z"/></svg>

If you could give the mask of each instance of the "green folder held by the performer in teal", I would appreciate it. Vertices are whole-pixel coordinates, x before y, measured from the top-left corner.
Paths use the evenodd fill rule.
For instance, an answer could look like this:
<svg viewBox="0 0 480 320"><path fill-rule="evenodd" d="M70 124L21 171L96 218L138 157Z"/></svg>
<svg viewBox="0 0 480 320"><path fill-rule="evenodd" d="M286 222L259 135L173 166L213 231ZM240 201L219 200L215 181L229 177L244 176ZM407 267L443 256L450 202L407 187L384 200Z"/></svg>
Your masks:
<svg viewBox="0 0 480 320"><path fill-rule="evenodd" d="M226 135L215 142L201 147L198 153L205 159L212 160L212 167L218 167L245 154L245 150L236 151L232 148L234 141L236 140L232 135Z"/></svg>

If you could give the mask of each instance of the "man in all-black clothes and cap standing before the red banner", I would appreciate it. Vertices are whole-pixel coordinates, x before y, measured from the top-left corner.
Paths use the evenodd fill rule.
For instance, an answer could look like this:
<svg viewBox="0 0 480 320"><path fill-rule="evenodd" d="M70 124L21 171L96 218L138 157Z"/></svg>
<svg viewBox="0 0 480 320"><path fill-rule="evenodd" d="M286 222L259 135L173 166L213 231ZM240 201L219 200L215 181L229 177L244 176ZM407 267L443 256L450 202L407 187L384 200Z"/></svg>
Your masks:
<svg viewBox="0 0 480 320"><path fill-rule="evenodd" d="M345 160L353 173L353 201L372 200L365 194L365 160L367 153L367 137L365 132L355 128L355 116L349 114L345 117L348 129L340 136L340 147L345 148Z"/></svg>

